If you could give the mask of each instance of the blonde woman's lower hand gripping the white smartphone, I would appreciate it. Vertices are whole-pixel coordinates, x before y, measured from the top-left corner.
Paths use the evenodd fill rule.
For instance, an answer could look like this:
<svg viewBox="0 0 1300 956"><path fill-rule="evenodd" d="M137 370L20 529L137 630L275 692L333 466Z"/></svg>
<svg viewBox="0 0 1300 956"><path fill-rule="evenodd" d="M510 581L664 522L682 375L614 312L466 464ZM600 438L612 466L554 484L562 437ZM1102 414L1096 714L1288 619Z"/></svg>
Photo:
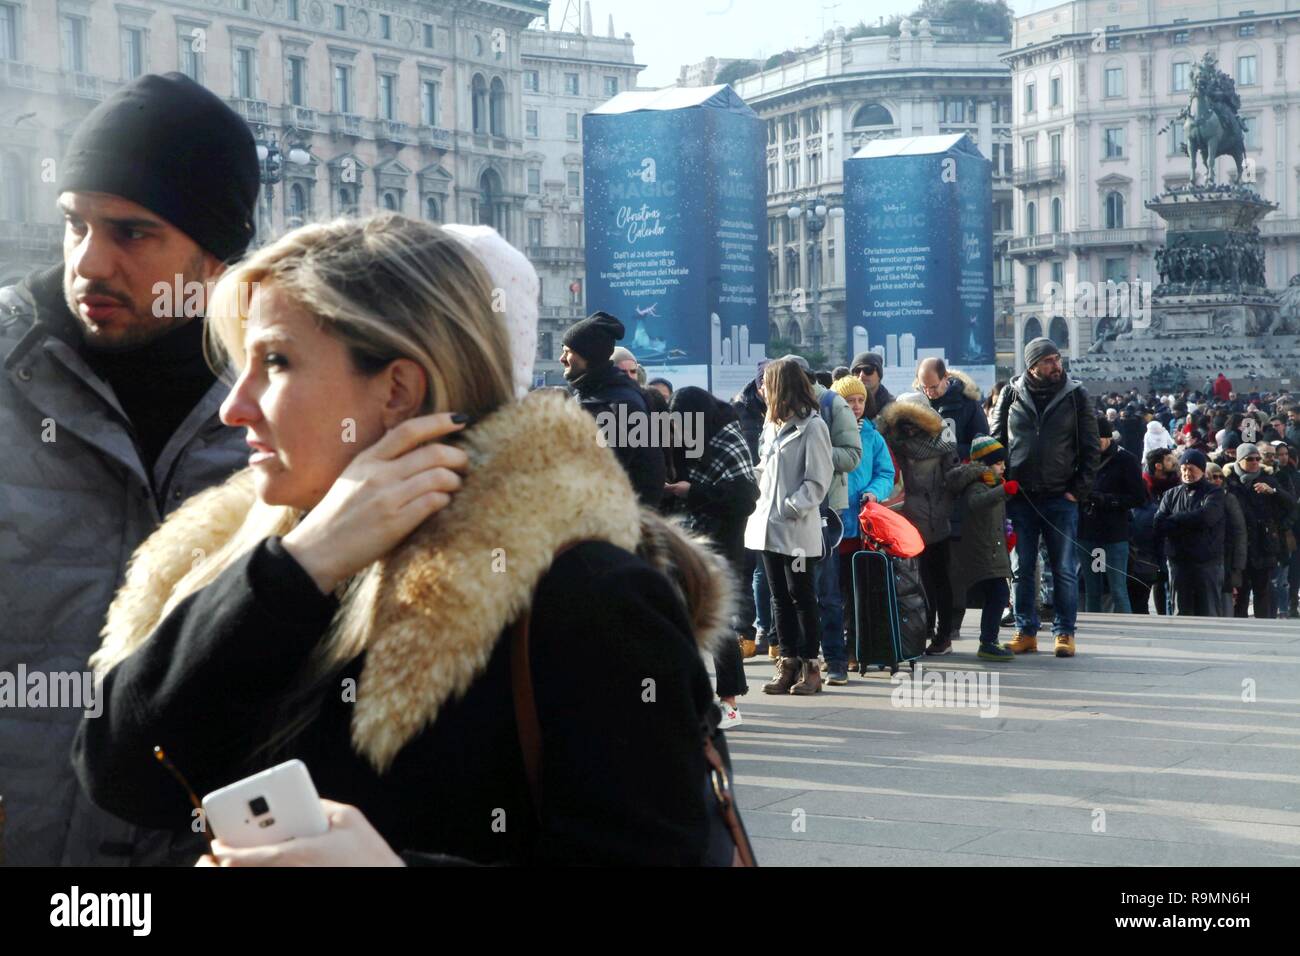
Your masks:
<svg viewBox="0 0 1300 956"><path fill-rule="evenodd" d="M212 855L195 866L404 866L365 816L348 804L321 800L329 832L268 847L228 847L212 842Z"/></svg>

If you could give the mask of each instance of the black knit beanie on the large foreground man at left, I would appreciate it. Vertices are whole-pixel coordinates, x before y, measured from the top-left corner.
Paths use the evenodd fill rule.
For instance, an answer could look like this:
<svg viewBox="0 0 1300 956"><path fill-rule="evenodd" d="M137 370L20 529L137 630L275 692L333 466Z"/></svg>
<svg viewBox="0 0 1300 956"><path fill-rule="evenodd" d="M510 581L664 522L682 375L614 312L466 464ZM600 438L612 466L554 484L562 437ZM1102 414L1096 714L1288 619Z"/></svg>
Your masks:
<svg viewBox="0 0 1300 956"><path fill-rule="evenodd" d="M68 146L61 193L108 193L157 213L221 260L252 239L252 131L182 73L147 74L92 109Z"/></svg>

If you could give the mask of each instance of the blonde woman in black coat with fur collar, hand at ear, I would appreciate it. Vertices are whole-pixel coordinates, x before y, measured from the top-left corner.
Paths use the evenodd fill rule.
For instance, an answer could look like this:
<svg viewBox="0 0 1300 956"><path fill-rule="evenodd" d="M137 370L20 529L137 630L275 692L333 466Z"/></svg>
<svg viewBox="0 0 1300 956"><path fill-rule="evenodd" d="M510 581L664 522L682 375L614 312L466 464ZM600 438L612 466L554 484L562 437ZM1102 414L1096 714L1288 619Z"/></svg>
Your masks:
<svg viewBox="0 0 1300 956"><path fill-rule="evenodd" d="M188 834L153 745L199 793L298 757L338 801L312 862L701 862L716 710L694 635L728 632L725 567L641 511L576 402L514 401L469 247L391 213L304 226L208 315L250 467L133 559L92 659L104 714L74 748L91 799Z"/></svg>

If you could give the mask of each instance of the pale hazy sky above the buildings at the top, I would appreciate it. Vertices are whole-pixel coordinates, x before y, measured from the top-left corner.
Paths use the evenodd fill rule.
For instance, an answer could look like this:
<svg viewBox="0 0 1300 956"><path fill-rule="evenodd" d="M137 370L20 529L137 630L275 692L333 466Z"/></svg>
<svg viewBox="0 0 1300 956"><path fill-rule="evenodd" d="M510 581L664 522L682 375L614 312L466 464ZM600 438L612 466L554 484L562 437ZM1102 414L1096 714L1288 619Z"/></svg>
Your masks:
<svg viewBox="0 0 1300 956"><path fill-rule="evenodd" d="M1013 0L1011 9L1050 7L1060 0ZM551 0L551 29L559 29L567 0ZM603 36L614 14L618 36L632 34L641 86L667 86L684 64L707 56L768 57L815 43L836 25L855 26L910 13L919 0L592 0L593 33ZM826 26L823 27L823 17Z"/></svg>

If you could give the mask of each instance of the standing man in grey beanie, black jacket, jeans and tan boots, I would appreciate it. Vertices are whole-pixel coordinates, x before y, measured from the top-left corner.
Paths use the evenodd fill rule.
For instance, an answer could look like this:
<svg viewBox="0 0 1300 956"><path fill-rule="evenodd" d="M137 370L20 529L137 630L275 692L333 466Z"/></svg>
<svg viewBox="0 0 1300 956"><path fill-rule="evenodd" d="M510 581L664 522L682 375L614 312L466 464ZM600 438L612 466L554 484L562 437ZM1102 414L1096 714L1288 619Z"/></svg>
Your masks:
<svg viewBox="0 0 1300 956"><path fill-rule="evenodd" d="M1008 450L1008 479L1020 485L1006 514L1015 529L1015 637L1018 654L1039 649L1039 538L1052 561L1056 656L1074 657L1079 610L1079 502L1088 497L1101 447L1097 419L1083 385L1067 378L1050 338L1024 346L1024 375L1013 378L993 407L992 434Z"/></svg>

